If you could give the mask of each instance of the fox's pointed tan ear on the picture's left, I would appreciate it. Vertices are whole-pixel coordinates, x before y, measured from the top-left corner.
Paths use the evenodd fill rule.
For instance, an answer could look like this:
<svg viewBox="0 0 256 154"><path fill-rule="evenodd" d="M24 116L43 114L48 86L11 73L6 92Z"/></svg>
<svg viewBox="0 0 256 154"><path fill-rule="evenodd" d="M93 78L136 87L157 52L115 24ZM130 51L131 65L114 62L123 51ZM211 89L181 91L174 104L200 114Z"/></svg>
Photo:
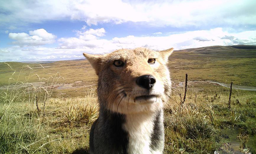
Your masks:
<svg viewBox="0 0 256 154"><path fill-rule="evenodd" d="M99 75L102 55L100 55L100 54L88 54L88 53L83 53L83 55L90 62L92 67L95 69L96 74Z"/></svg>

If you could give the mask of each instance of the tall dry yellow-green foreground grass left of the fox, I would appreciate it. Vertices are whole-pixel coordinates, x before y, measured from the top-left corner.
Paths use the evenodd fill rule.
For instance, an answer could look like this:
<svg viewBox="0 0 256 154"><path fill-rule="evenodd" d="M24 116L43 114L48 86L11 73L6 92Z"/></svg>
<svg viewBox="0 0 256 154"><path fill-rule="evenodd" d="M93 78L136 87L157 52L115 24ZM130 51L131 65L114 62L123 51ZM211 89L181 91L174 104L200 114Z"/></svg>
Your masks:
<svg viewBox="0 0 256 154"><path fill-rule="evenodd" d="M0 153L88 151L99 110L94 89L85 97L50 98L41 112L29 101L0 104Z"/></svg>

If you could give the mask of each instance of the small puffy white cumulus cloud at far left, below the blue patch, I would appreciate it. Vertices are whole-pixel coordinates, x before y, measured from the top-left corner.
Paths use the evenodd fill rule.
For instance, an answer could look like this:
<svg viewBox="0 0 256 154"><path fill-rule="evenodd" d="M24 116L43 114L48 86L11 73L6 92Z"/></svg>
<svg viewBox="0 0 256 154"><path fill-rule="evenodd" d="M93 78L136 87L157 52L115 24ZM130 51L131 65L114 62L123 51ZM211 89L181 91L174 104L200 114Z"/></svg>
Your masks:
<svg viewBox="0 0 256 154"><path fill-rule="evenodd" d="M9 33L9 38L16 40L12 42L18 46L39 46L55 42L56 36L44 29L37 29L27 33Z"/></svg>

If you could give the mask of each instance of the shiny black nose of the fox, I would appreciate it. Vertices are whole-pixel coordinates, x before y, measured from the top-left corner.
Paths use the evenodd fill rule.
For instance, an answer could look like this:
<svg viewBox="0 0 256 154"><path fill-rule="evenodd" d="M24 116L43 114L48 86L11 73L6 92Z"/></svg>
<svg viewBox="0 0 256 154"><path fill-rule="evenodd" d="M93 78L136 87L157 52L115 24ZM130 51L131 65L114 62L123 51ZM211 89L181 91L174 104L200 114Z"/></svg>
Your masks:
<svg viewBox="0 0 256 154"><path fill-rule="evenodd" d="M155 82L156 79L151 75L143 75L136 80L137 85L146 89L152 88Z"/></svg>

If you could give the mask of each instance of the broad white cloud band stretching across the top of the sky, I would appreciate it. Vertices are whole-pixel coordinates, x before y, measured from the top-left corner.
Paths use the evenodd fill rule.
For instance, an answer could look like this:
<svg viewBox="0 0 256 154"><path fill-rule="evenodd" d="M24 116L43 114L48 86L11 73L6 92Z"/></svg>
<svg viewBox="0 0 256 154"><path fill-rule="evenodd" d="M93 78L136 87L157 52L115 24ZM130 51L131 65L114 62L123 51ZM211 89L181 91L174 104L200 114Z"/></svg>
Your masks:
<svg viewBox="0 0 256 154"><path fill-rule="evenodd" d="M0 22L12 28L47 20L81 20L87 25L144 22L151 26L256 25L256 1L121 1L121 0L22 0L1 2ZM23 10L22 13L20 10Z"/></svg>

